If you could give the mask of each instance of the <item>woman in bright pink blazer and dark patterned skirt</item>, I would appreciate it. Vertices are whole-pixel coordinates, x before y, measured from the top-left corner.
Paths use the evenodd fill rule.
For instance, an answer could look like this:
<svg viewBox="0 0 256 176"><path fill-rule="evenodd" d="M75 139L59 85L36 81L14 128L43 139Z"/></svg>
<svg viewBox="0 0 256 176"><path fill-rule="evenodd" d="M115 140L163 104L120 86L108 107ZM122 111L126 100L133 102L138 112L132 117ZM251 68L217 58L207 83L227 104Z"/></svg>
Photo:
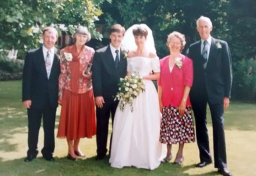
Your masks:
<svg viewBox="0 0 256 176"><path fill-rule="evenodd" d="M185 143L195 141L189 91L193 81L193 63L181 54L186 44L179 32L168 35L170 55L160 60L161 75L158 80L158 96L161 118L160 142L167 144L165 162L172 158L171 145L179 144L174 164L180 165Z"/></svg>

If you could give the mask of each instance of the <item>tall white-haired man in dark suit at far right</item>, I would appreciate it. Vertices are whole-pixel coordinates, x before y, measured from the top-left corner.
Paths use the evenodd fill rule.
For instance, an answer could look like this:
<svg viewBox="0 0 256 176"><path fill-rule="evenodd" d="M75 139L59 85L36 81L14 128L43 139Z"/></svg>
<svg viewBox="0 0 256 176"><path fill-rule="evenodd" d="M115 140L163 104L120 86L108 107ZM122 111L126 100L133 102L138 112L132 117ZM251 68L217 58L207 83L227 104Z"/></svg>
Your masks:
<svg viewBox="0 0 256 176"><path fill-rule="evenodd" d="M201 40L190 45L188 57L193 60L194 78L190 99L196 120L197 146L203 167L212 163L206 121L207 103L213 122L214 167L224 176L231 176L227 170L224 110L229 107L232 85L231 55L227 42L214 39L210 32L211 20L201 16L197 20L197 31Z"/></svg>

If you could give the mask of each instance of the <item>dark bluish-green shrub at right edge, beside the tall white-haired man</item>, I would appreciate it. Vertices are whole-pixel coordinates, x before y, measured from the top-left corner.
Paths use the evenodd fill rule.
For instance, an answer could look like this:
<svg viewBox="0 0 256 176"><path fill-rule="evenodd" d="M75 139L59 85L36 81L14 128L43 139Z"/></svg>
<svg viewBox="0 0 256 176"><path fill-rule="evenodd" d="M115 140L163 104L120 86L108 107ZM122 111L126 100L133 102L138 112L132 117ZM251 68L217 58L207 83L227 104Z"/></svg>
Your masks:
<svg viewBox="0 0 256 176"><path fill-rule="evenodd" d="M234 64L232 98L256 100L256 60L240 60Z"/></svg>

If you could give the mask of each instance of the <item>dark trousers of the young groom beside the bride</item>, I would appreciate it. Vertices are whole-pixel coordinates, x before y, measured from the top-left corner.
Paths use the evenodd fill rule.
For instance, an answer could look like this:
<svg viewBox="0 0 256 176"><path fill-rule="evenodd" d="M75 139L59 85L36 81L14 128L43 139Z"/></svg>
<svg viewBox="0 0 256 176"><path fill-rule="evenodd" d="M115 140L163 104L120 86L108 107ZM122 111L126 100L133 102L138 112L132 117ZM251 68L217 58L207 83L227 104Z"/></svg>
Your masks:
<svg viewBox="0 0 256 176"><path fill-rule="evenodd" d="M102 108L96 107L96 143L97 156L104 157L107 155L107 136L108 136L108 122L111 115L112 127L114 123L114 116L117 110L118 101L106 100ZM110 138L109 153L111 151L112 134Z"/></svg>

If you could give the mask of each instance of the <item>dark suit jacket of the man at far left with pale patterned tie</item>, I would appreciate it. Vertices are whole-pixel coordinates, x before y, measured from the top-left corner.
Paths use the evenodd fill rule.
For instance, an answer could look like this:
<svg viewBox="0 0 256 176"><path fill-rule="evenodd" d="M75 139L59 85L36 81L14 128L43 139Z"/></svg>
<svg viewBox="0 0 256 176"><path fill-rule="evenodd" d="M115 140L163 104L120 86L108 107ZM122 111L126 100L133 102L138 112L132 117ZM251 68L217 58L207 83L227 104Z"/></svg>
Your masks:
<svg viewBox="0 0 256 176"><path fill-rule="evenodd" d="M22 101L31 100L33 108L45 108L49 103L52 107L58 106L60 66L56 53L57 48L48 80L43 47L27 51L23 68Z"/></svg>

